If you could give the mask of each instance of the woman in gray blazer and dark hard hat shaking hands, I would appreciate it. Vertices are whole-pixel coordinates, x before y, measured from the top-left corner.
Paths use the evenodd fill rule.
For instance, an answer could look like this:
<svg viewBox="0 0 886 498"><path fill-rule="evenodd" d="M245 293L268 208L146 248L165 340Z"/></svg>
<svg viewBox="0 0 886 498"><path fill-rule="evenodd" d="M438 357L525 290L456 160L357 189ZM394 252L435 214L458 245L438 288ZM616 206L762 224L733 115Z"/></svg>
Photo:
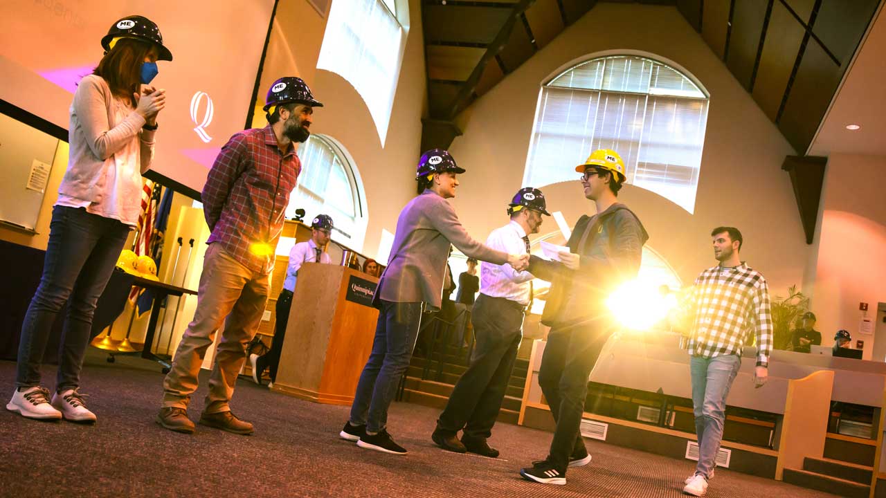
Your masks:
<svg viewBox="0 0 886 498"><path fill-rule="evenodd" d="M416 346L424 307L440 307L449 246L468 257L526 268L528 255L505 253L474 240L459 222L447 198L455 197L456 175L464 169L442 149L424 152L416 180L423 193L400 212L387 268L378 281L373 305L379 309L369 360L357 383L350 419L339 437L357 446L405 455L387 432L387 411Z"/></svg>

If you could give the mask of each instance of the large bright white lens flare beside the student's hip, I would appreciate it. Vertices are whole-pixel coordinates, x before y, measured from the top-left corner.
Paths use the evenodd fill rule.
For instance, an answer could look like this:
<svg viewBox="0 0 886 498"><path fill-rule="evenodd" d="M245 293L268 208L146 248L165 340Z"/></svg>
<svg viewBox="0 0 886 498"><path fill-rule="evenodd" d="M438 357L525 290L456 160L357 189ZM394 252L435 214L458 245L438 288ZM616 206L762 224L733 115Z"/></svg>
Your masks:
<svg viewBox="0 0 886 498"><path fill-rule="evenodd" d="M648 331L677 306L676 296L660 287L642 278L628 281L610 294L606 306L626 329Z"/></svg>

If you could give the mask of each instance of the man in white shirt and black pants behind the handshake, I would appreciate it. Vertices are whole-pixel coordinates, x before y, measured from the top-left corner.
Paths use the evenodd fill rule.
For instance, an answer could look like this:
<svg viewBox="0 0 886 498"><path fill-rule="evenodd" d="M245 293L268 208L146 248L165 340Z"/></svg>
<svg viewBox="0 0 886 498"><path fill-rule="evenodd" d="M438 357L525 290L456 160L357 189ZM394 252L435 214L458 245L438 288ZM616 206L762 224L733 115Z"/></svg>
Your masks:
<svg viewBox="0 0 886 498"><path fill-rule="evenodd" d="M529 234L538 233L542 214L550 215L546 208L541 191L520 189L508 208L510 222L493 230L486 245L509 254L528 254ZM492 458L499 455L486 439L492 435L523 338L523 316L532 306L532 278L531 273L507 265L486 261L480 265L480 294L471 316L477 345L431 434L439 447Z"/></svg>

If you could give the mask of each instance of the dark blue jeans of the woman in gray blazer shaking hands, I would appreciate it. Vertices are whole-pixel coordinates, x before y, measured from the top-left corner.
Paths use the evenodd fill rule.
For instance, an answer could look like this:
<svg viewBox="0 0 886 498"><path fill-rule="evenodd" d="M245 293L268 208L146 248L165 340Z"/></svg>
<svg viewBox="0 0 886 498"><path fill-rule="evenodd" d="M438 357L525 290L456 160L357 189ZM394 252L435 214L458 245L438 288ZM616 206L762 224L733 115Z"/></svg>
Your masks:
<svg viewBox="0 0 886 498"><path fill-rule="evenodd" d="M372 353L357 383L350 420L352 425L366 424L366 431L372 433L385 429L388 407L409 367L422 319L420 302L381 300L381 305Z"/></svg>

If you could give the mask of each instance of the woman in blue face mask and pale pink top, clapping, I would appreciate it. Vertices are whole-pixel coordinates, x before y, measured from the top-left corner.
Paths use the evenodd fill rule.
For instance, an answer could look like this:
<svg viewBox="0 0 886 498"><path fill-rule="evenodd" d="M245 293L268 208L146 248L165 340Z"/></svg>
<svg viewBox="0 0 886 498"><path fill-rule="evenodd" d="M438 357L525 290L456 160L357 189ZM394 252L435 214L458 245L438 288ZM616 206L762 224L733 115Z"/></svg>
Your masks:
<svg viewBox="0 0 886 498"><path fill-rule="evenodd" d="M98 297L141 212L141 174L151 167L165 90L143 84L172 60L151 20L129 16L102 38L105 56L74 93L70 157L52 207L43 276L21 328L16 389L6 409L28 418L95 422L78 393ZM40 363L56 315L70 298L56 393L40 385Z"/></svg>

